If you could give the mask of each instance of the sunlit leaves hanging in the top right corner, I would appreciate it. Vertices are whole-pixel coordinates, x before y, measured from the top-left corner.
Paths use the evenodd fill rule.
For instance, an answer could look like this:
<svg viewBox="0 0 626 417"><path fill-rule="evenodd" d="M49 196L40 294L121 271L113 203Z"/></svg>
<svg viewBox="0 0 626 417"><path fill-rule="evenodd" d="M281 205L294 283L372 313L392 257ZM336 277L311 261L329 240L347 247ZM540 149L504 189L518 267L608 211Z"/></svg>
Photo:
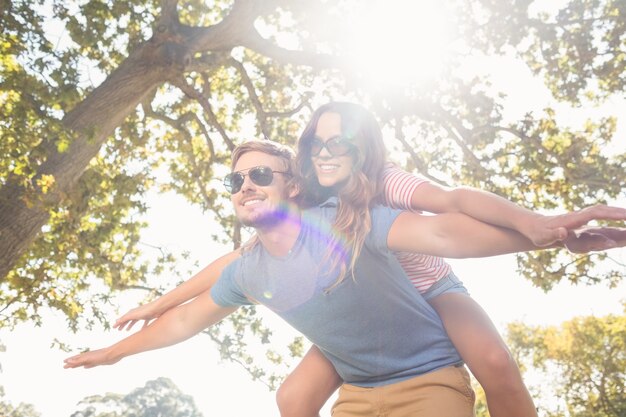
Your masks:
<svg viewBox="0 0 626 417"><path fill-rule="evenodd" d="M471 42L491 52L516 48L555 97L581 103L626 91L623 1L570 0L556 13L532 0L464 3Z"/></svg>

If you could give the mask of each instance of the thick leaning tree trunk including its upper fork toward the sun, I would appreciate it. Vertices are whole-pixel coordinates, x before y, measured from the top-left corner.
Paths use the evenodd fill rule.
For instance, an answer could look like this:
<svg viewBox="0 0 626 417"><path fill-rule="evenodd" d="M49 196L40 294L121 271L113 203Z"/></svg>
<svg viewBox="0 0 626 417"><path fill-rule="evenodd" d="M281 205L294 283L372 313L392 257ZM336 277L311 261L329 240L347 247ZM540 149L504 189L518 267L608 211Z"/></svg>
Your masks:
<svg viewBox="0 0 626 417"><path fill-rule="evenodd" d="M238 45L259 43L255 19L281 1L236 0L220 23L189 27L179 23L178 1L164 0L153 37L139 45L102 85L63 118L63 125L75 135L69 148L61 153L52 149L31 186L24 187L9 178L0 188L0 280L24 256L48 221L50 208L75 186L103 143L147 95L168 79L184 74L196 52L228 52ZM36 185L42 175L54 177L54 186L47 193Z"/></svg>

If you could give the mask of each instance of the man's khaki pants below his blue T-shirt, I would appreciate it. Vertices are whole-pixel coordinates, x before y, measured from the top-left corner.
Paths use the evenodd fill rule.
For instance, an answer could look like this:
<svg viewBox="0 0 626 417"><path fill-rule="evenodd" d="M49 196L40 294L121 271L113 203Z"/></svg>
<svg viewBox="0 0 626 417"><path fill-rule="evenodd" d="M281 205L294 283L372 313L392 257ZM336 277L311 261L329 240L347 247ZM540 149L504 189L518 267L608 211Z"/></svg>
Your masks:
<svg viewBox="0 0 626 417"><path fill-rule="evenodd" d="M447 367L374 388L343 384L333 417L473 417L474 391L465 367Z"/></svg>

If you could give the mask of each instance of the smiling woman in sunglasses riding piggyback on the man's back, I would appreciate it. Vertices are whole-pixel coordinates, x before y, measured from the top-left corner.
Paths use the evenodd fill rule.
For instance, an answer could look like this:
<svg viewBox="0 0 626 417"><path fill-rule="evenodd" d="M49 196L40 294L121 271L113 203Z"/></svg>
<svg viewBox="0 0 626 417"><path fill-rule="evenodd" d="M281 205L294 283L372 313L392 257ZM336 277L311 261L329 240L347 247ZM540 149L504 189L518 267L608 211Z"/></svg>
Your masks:
<svg viewBox="0 0 626 417"><path fill-rule="evenodd" d="M356 259L369 231L375 202L430 212L461 211L479 220L520 231L547 245L593 218L594 212L568 217L535 215L493 194L445 190L386 166L382 133L374 117L351 103L329 103L314 113L298 142L298 169L307 204L331 195L339 199L335 227L347 237ZM384 191L384 192L383 192ZM138 320L158 317L213 285L221 269L238 252L209 265L191 280L152 303L133 309L115 323L130 329ZM536 416L515 362L484 311L467 295L440 258L398 254L416 288L441 316L450 338L485 388L491 415ZM341 279L349 276L345 265ZM147 322L147 321L146 321ZM281 415L314 416L340 384L330 363L313 347L278 392Z"/></svg>

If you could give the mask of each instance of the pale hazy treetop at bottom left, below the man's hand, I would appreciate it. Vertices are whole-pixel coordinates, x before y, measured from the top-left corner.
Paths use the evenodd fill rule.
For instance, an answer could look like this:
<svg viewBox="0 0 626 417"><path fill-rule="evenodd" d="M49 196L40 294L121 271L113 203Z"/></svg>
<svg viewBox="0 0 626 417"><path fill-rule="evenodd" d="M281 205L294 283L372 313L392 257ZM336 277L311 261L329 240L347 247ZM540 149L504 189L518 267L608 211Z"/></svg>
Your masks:
<svg viewBox="0 0 626 417"><path fill-rule="evenodd" d="M202 417L191 398L167 378L146 382L128 394L94 395L83 399L71 417Z"/></svg>

